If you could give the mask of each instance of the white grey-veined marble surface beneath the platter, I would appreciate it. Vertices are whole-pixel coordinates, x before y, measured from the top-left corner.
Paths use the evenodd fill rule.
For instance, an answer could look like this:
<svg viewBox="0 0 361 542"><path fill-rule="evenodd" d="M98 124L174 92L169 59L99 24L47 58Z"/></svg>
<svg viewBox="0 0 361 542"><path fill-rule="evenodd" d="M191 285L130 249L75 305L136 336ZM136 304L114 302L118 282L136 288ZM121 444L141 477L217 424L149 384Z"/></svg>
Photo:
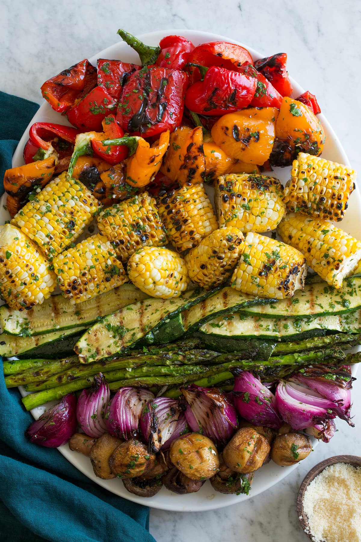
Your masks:
<svg viewBox="0 0 361 542"><path fill-rule="evenodd" d="M40 103L43 81L116 42L119 27L133 34L171 28L207 30L265 55L286 51L289 72L317 95L352 165L360 171L360 8L359 0L1 0L0 89ZM330 444L320 444L268 492L220 511L152 510L150 532L157 542L305 542L295 506L298 487L306 472L326 457L359 454L360 390L358 382L353 392L357 427L338 423Z"/></svg>

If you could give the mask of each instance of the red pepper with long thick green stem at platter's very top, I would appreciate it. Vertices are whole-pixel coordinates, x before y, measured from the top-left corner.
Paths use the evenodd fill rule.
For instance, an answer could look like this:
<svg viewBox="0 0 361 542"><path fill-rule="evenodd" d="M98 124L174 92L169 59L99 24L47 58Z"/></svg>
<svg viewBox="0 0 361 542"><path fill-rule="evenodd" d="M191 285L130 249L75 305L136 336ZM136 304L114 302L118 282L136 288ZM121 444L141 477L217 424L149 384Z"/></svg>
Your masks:
<svg viewBox="0 0 361 542"><path fill-rule="evenodd" d="M118 34L139 54L142 66L155 64L160 68L182 70L194 49L193 43L183 36L165 36L159 42L159 47L151 47L122 28Z"/></svg>

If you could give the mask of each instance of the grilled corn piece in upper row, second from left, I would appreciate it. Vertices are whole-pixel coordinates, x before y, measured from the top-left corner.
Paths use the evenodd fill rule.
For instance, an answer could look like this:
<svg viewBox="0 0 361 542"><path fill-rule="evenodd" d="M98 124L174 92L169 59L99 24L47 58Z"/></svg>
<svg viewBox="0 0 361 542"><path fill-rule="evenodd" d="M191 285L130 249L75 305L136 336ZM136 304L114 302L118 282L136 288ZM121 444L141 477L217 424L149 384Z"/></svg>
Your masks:
<svg viewBox="0 0 361 542"><path fill-rule="evenodd" d="M141 247L161 247L167 242L155 199L148 192L101 211L97 224L123 262Z"/></svg>

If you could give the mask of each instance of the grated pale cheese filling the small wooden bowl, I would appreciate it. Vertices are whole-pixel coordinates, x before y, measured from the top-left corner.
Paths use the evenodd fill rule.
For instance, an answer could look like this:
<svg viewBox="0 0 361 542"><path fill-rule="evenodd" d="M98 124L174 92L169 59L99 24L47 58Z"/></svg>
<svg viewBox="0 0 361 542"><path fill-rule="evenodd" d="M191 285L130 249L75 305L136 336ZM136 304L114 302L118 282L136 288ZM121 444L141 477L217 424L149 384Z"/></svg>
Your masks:
<svg viewBox="0 0 361 542"><path fill-rule="evenodd" d="M314 542L361 542L361 467L326 467L306 488L303 508Z"/></svg>

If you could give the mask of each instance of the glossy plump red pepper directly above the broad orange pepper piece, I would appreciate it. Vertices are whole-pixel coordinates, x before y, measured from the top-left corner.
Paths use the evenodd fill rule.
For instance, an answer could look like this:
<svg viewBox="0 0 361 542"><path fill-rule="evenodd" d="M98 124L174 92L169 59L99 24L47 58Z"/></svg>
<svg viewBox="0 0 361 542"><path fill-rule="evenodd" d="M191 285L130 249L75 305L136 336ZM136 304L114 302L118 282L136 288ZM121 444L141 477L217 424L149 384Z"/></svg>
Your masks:
<svg viewBox="0 0 361 542"><path fill-rule="evenodd" d="M208 68L203 81L186 92L185 105L202 115L223 115L250 105L257 79L218 66Z"/></svg>

